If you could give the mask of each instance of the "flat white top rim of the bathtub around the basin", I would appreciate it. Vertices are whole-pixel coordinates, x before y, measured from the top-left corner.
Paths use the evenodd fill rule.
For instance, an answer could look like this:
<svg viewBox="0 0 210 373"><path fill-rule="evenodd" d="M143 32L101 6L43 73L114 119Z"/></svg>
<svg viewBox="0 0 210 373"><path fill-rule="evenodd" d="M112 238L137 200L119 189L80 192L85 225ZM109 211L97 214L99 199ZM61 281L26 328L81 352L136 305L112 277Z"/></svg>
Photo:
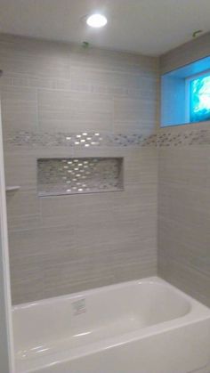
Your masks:
<svg viewBox="0 0 210 373"><path fill-rule="evenodd" d="M182 292L182 290L175 288L170 283L166 282L166 280L162 280L158 278L157 276L144 278L141 280L132 280L132 281L126 281L121 282L119 284L115 285L109 285L106 287L101 288L93 288L90 290L85 290L84 292L77 292L72 293L70 295L64 295L64 296L55 296L48 299L42 299L40 301L36 302L30 302L27 304L18 304L12 307L12 312L15 312L16 310L21 310L24 308L28 308L29 306L37 306L39 304L52 304L53 302L58 302L59 300L65 300L65 299L75 299L77 297L81 298L85 295L89 294L97 294L97 292L103 292L103 291L109 291L110 288L125 288L129 287L132 284L138 284L141 285L141 283L149 283L149 284L162 284L165 285L167 288L172 289L176 294L179 296L182 296L183 299L187 300L190 303L190 312L187 312L186 314L182 315L181 317L174 318L172 320L166 320L163 322L160 322L158 324L153 324L151 326L148 326L146 328L138 328L134 331L117 335L117 337L107 337L104 340L99 340L97 342L93 342L91 344L83 345L76 347L72 349L70 352L68 349L64 349L62 352L59 350L58 352L47 354L44 356L36 357L34 359L27 359L24 361L27 363L27 361L30 361L30 368L29 369L23 369L23 370L17 370L23 371L24 373L29 373L36 371L37 367L51 367L54 364L60 364L61 362L67 362L67 361L73 361L77 360L80 357L84 357L87 355L90 355L92 353L100 353L102 350L108 350L110 348L125 345L128 343L132 343L135 341L138 341L139 339L144 339L147 337L155 336L158 334L166 333L169 330L187 327L190 324L198 323L202 320L210 320L210 309L204 305L198 302L196 299L192 298L191 296L185 294ZM19 362L18 362L19 361ZM24 365L24 362L22 361L22 364ZM21 363L21 360L19 360L16 357L16 364L17 368L19 367L19 363Z"/></svg>

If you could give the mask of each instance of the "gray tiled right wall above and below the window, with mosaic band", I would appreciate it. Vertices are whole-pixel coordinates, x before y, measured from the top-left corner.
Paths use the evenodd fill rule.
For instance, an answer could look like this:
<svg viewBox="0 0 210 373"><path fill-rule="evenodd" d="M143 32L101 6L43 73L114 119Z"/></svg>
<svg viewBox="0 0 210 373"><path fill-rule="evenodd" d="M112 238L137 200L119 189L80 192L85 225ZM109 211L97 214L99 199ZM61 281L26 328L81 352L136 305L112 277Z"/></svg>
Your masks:
<svg viewBox="0 0 210 373"><path fill-rule="evenodd" d="M161 71L209 55L209 42L166 53ZM164 128L158 139L158 274L210 306L209 123Z"/></svg>

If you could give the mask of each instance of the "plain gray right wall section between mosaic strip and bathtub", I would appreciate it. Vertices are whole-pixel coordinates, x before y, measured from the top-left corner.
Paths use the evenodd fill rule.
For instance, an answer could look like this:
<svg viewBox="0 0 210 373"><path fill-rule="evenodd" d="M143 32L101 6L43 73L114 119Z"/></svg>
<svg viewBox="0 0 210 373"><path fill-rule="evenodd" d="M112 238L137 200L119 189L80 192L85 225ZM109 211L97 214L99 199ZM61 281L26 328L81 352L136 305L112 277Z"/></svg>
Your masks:
<svg viewBox="0 0 210 373"><path fill-rule="evenodd" d="M158 271L210 305L210 148L159 150Z"/></svg>

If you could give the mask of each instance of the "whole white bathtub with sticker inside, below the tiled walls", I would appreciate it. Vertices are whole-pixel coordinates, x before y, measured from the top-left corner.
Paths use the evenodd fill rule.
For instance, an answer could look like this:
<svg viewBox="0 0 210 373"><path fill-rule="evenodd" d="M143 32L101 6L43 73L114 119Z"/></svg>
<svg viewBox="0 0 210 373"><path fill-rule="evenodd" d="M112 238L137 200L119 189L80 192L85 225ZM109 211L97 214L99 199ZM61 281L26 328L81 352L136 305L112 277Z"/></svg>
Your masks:
<svg viewBox="0 0 210 373"><path fill-rule="evenodd" d="M158 278L13 307L16 372L210 372L210 309Z"/></svg>

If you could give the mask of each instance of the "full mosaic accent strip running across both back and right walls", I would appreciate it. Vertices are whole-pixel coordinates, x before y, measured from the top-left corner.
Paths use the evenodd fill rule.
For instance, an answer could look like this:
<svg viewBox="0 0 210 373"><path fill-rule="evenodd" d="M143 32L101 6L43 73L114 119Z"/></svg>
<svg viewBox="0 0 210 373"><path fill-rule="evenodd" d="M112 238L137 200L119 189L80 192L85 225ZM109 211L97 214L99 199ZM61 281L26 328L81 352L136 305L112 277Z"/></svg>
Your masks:
<svg viewBox="0 0 210 373"><path fill-rule="evenodd" d="M175 128L175 130L174 130ZM158 134L144 136L142 134L100 134L100 133L33 133L20 131L4 134L4 142L14 146L44 147L165 147L210 145L210 129L185 129L170 127L162 129Z"/></svg>

